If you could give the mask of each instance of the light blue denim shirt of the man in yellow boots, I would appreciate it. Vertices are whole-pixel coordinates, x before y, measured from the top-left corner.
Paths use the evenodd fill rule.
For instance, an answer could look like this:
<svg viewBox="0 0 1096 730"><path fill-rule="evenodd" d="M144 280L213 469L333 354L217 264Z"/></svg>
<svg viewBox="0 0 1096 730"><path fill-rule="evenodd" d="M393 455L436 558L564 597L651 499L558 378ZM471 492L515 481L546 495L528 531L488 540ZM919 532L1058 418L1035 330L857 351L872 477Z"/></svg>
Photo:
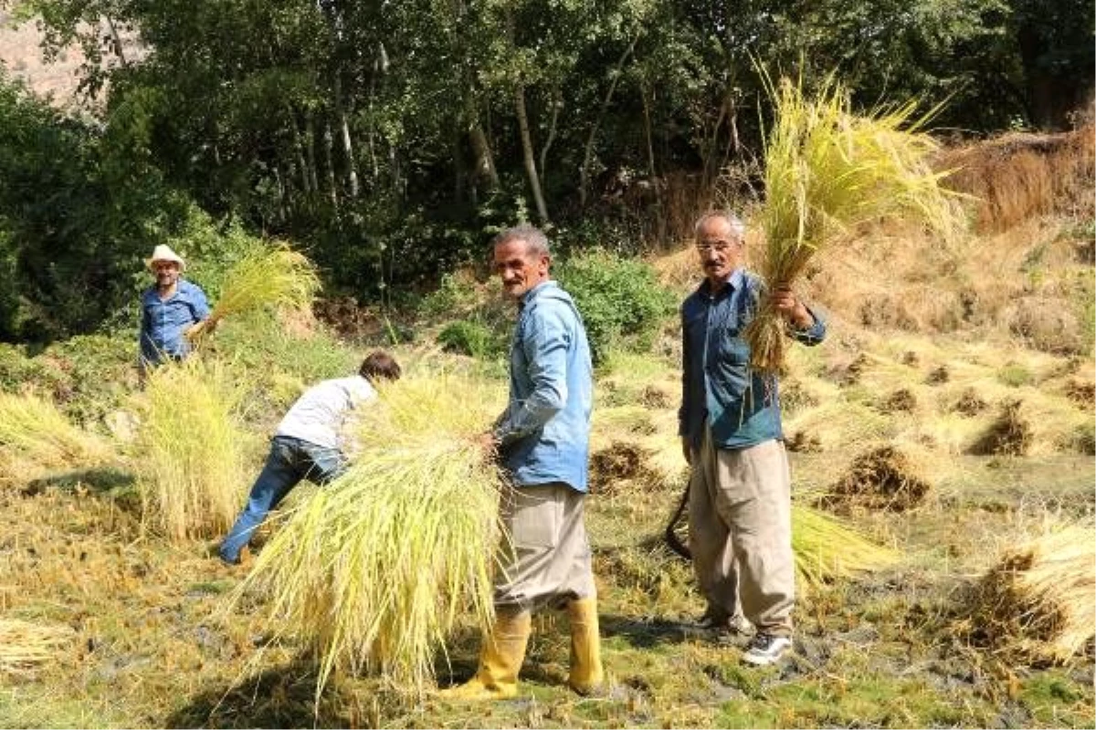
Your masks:
<svg viewBox="0 0 1096 730"><path fill-rule="evenodd" d="M570 294L545 281L521 300L510 347L510 404L494 436L518 486L563 482L586 491L593 366Z"/></svg>

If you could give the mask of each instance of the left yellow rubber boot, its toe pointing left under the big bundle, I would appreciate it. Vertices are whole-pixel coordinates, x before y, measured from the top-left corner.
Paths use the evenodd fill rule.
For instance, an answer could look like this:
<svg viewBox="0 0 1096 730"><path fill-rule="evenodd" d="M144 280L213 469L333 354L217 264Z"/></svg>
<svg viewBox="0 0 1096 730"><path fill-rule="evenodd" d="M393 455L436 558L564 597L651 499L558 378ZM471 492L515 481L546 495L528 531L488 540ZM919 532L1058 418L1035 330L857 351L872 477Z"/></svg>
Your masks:
<svg viewBox="0 0 1096 730"><path fill-rule="evenodd" d="M446 699L506 699L517 696L517 673L533 626L528 611L495 615L491 636L483 637L476 676L441 692Z"/></svg>

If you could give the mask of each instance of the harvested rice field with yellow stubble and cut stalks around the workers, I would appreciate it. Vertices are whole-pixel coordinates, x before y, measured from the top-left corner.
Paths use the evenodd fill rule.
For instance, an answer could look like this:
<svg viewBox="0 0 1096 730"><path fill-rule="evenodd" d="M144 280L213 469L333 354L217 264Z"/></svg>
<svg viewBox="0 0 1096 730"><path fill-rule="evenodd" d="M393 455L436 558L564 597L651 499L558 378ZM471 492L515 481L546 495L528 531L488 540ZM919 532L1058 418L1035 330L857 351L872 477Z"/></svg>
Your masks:
<svg viewBox="0 0 1096 730"><path fill-rule="evenodd" d="M639 352L610 351L586 502L608 688L590 698L566 686L552 614L535 618L515 699L449 704L368 662L334 663L318 694L312 646L274 623L269 594L239 590L254 560L225 566L216 529L155 519L168 497L147 498L145 426L172 406L137 386L132 339L2 349L0 728L1096 728L1091 230L1076 213L946 242L887 225L808 267L799 291L831 334L788 350L781 385L810 531L797 549L886 559L801 573L795 651L775 668L743 667L744 638L695 627L704 602L663 538L686 478L674 317ZM694 256L650 265L684 297ZM237 507L288 404L374 345L501 401L501 362L437 346L445 314L407 320L413 341L392 345L391 326L355 338L226 318L202 357L243 389ZM49 438L25 438L31 408ZM260 556L284 524L264 525ZM457 619L433 657L439 685L475 671L478 633Z"/></svg>

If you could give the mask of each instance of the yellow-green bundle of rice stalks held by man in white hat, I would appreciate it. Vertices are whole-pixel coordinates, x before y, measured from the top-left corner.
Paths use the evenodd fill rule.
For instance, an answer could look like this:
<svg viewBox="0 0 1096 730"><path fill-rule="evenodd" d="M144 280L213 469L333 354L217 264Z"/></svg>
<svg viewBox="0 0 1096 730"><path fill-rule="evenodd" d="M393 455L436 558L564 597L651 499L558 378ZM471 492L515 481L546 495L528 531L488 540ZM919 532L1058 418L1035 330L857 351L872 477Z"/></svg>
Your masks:
<svg viewBox="0 0 1096 730"><path fill-rule="evenodd" d="M264 306L307 310L320 289L316 266L285 244L259 250L240 259L225 276L225 289L212 321Z"/></svg>

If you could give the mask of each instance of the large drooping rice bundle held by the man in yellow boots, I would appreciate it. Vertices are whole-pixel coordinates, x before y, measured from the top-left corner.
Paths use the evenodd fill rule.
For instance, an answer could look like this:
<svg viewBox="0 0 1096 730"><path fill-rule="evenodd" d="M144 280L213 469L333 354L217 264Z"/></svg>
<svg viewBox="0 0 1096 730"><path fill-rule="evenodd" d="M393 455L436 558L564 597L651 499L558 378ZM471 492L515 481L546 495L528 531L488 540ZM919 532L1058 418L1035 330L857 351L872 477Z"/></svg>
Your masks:
<svg viewBox="0 0 1096 730"><path fill-rule="evenodd" d="M354 464L288 515L241 584L237 600L270 596L275 638L315 647L317 696L336 669L420 694L458 617L490 625L501 484L475 439L494 401L454 375L381 386Z"/></svg>

